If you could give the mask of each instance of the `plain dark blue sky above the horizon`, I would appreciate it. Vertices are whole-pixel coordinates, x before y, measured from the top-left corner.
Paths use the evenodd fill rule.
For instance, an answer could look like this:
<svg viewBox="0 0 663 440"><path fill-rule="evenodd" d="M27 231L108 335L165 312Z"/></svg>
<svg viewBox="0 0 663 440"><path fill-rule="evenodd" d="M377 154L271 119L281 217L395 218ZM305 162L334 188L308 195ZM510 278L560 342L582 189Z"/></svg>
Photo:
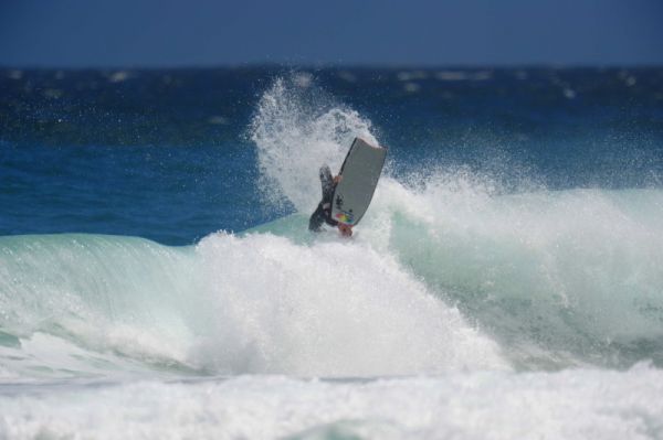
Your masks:
<svg viewBox="0 0 663 440"><path fill-rule="evenodd" d="M663 65L663 0L0 0L0 66Z"/></svg>

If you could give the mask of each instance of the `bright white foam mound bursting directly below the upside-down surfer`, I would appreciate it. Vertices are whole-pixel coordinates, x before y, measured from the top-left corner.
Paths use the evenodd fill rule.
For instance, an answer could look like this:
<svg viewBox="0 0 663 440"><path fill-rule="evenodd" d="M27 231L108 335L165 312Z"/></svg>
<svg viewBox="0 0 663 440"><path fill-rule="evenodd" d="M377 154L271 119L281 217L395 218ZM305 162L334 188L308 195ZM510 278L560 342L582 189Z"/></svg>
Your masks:
<svg viewBox="0 0 663 440"><path fill-rule="evenodd" d="M217 316L199 348L209 369L375 376L508 367L456 309L367 244L225 235L203 239L198 253L203 300Z"/></svg>

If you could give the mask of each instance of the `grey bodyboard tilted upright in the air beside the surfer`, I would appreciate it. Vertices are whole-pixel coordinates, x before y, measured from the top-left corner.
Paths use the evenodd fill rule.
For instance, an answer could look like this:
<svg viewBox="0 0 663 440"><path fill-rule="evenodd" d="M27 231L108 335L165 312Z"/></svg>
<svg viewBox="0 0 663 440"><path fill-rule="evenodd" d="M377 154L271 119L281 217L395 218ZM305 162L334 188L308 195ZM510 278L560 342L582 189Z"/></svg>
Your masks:
<svg viewBox="0 0 663 440"><path fill-rule="evenodd" d="M343 179L334 190L332 218L355 226L359 223L378 185L387 149L355 138L338 173Z"/></svg>

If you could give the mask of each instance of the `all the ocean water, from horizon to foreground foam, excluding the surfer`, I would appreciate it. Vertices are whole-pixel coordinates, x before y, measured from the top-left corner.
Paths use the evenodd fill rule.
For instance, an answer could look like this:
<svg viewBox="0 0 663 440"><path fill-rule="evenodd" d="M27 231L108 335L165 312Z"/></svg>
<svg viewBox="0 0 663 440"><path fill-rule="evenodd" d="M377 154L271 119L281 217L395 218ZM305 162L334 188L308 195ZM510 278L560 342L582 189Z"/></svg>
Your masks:
<svg viewBox="0 0 663 440"><path fill-rule="evenodd" d="M389 148L352 239L317 170ZM0 71L0 438L663 439L663 68Z"/></svg>

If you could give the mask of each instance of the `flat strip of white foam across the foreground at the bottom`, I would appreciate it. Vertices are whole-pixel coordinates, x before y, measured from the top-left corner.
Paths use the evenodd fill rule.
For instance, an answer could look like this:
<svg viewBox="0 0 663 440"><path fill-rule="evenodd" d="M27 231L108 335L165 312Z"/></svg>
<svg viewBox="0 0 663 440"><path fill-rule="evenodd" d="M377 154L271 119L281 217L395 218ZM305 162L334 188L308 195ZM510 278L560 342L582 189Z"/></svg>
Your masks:
<svg viewBox="0 0 663 440"><path fill-rule="evenodd" d="M361 382L242 376L0 393L0 437L659 439L663 372L465 373Z"/></svg>

